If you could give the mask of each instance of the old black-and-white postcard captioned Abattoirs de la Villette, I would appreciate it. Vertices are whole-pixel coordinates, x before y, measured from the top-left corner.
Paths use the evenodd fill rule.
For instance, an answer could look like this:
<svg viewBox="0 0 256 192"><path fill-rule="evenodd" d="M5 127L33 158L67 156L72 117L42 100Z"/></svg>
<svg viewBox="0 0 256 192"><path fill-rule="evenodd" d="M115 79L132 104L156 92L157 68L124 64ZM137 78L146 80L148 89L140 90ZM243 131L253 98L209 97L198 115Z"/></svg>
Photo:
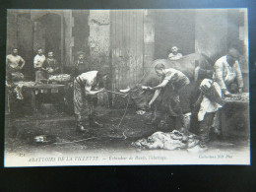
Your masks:
<svg viewBox="0 0 256 192"><path fill-rule="evenodd" d="M247 9L8 10L5 166L250 164Z"/></svg>

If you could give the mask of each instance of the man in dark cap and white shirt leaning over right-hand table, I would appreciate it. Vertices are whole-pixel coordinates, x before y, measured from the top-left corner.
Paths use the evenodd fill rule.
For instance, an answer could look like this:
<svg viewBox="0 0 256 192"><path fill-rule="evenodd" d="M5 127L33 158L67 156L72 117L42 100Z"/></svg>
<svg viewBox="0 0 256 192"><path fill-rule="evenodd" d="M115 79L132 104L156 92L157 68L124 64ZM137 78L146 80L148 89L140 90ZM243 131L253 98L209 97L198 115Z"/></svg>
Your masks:
<svg viewBox="0 0 256 192"><path fill-rule="evenodd" d="M221 86L224 96L229 96L230 92L242 93L243 79L238 59L239 52L230 48L227 55L218 59L214 65L216 80Z"/></svg>

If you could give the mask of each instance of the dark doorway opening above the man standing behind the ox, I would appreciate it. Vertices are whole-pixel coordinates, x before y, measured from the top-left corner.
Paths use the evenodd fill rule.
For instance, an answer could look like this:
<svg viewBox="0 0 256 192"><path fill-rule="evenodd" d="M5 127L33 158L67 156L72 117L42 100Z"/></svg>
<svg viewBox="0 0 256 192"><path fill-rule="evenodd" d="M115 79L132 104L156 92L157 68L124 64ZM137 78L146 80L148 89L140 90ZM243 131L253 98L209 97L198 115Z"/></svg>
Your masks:
<svg viewBox="0 0 256 192"><path fill-rule="evenodd" d="M155 11L155 59L167 58L172 46L183 55L195 52L195 11Z"/></svg>

